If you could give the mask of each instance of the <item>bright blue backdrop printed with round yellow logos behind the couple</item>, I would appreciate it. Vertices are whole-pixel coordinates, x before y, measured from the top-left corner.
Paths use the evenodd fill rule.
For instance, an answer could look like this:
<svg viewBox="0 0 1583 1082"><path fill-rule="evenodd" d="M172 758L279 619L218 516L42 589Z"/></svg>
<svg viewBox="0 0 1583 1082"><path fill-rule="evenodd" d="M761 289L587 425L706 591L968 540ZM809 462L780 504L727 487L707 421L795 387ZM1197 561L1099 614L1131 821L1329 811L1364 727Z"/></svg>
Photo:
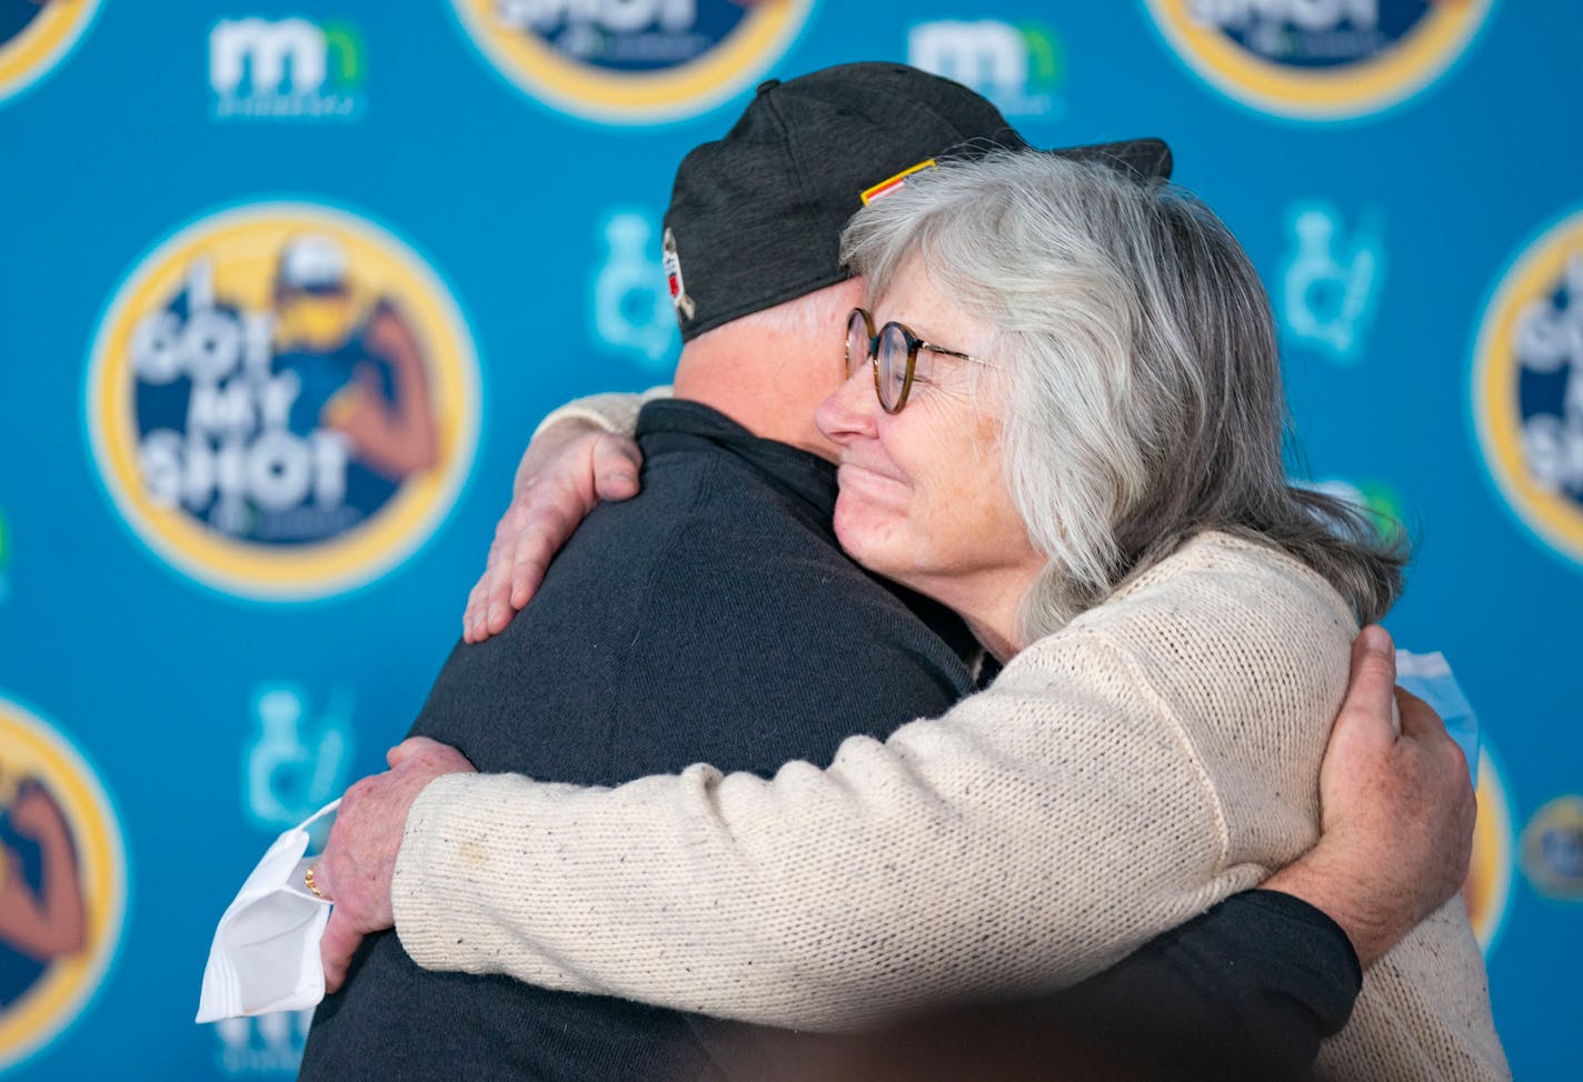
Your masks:
<svg viewBox="0 0 1583 1082"><path fill-rule="evenodd" d="M1284 334L1300 476L1418 538L1485 753L1518 1077L1583 1017L1583 8L1520 0L0 0L0 1073L290 1073L215 919L382 767L535 421L663 381L670 176L907 60L1165 136ZM853 147L861 155L863 147Z"/></svg>

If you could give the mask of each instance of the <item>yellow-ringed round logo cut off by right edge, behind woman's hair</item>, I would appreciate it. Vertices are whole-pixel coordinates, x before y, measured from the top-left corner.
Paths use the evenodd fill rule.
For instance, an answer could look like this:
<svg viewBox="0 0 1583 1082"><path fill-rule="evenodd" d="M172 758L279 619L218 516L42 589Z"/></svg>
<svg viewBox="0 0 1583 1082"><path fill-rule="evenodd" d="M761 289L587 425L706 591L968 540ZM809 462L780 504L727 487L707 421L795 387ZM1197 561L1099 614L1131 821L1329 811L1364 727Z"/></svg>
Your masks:
<svg viewBox="0 0 1583 1082"><path fill-rule="evenodd" d="M1472 411L1518 519L1583 562L1583 212L1504 275L1474 346Z"/></svg>

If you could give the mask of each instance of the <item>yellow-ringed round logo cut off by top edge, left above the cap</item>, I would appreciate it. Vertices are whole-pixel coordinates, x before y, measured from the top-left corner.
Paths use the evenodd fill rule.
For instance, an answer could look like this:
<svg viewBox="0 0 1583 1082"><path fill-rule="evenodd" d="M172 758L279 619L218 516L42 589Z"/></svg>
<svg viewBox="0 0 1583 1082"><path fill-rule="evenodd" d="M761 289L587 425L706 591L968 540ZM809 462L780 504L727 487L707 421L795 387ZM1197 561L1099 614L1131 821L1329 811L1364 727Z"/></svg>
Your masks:
<svg viewBox="0 0 1583 1082"><path fill-rule="evenodd" d="M518 89L605 123L709 109L780 59L814 0L451 0Z"/></svg>

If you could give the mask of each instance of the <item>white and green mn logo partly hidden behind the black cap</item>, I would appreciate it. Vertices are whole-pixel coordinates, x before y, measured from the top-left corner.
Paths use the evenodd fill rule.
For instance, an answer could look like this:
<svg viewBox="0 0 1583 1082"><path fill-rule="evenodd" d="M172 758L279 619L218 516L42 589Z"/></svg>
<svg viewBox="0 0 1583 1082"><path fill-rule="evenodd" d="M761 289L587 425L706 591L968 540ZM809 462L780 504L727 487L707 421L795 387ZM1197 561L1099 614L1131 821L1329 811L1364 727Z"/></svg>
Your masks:
<svg viewBox="0 0 1583 1082"><path fill-rule="evenodd" d="M907 33L907 62L972 87L1007 115L1065 109L1065 55L1046 27L1023 22L920 22Z"/></svg>

